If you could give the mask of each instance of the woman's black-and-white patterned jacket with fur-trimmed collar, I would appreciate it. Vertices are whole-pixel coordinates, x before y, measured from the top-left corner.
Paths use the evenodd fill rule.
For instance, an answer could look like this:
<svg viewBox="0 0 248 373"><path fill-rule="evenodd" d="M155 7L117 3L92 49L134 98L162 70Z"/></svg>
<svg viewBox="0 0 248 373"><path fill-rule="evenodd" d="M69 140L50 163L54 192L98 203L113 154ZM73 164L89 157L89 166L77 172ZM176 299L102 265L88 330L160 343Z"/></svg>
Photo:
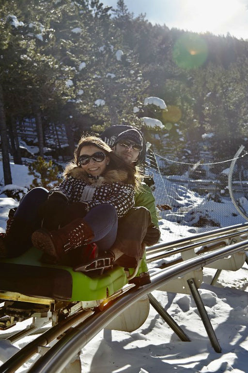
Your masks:
<svg viewBox="0 0 248 373"><path fill-rule="evenodd" d="M95 179L81 167L75 167L61 184L49 191L48 198L55 192L61 193L69 203L86 202L88 210L98 204L109 203L121 218L135 205L134 186L125 184L126 178L126 171L110 170Z"/></svg>

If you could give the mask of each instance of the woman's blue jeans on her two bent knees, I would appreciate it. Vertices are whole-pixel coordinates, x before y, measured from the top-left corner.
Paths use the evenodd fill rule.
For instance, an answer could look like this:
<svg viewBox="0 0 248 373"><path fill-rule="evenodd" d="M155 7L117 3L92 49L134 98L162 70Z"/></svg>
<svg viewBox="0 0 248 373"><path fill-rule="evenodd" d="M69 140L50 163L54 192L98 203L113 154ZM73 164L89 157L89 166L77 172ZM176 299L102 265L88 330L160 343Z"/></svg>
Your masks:
<svg viewBox="0 0 248 373"><path fill-rule="evenodd" d="M20 201L15 217L30 224L33 231L41 227L38 209L47 200L48 191L43 187L31 189ZM84 217L93 230L94 238L100 250L108 250L113 245L118 221L115 208L108 203L94 206Z"/></svg>

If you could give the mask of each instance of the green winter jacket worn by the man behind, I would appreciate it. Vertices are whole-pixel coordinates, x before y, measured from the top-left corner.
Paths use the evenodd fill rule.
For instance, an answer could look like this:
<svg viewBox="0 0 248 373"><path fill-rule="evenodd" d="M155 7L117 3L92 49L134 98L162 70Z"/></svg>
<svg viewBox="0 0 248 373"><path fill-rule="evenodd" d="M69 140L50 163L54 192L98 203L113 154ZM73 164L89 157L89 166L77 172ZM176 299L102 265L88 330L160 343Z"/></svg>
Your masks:
<svg viewBox="0 0 248 373"><path fill-rule="evenodd" d="M150 186L145 183L142 183L142 191L135 193L135 206L136 207L146 207L150 213L152 222L156 227L158 227L158 219L156 214L156 207L155 207L155 198Z"/></svg>

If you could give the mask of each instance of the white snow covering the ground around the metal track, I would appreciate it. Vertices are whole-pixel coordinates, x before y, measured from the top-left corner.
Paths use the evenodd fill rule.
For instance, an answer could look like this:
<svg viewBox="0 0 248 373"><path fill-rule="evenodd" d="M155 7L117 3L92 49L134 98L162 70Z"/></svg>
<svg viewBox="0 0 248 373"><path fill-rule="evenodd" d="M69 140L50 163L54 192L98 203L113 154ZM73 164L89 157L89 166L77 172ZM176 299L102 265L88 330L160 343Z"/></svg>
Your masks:
<svg viewBox="0 0 248 373"><path fill-rule="evenodd" d="M28 186L31 183L23 166L11 165L13 183ZM24 166L25 167L25 166ZM20 169L21 168L21 169ZM0 169L0 178L2 178ZM197 199L192 194L193 199ZM192 202L191 201L191 202ZM190 202L187 194L186 202ZM193 201L196 203L196 200ZM197 201L199 205L201 200ZM193 203L193 204L194 204ZM8 210L18 203L12 198L0 198L0 230L6 226ZM216 210L215 206L222 210ZM231 204L212 204L212 214L221 226L227 226L228 214L235 211ZM221 218L220 218L221 215ZM185 216L185 215L184 215ZM244 220L236 217L236 223ZM216 227L193 227L190 222L182 225L174 220L159 220L161 237L171 241L216 229ZM154 268L154 263L151 268ZM81 354L82 372L84 373L247 373L248 354L248 266L236 271L223 271L216 286L209 285L215 273L213 269L203 270L203 283L200 293L208 316L214 327L217 339L222 348L220 354L211 346L200 319L196 305L190 295L154 291L153 295L169 312L190 338L182 342L151 306L146 322L132 333L120 331L101 331L87 344ZM26 327L17 323L0 336ZM11 349L6 341L0 341L0 360L22 348L34 337L29 336L14 344ZM37 356L36 356L37 357ZM35 357L35 358L36 358ZM17 372L27 372L31 359Z"/></svg>

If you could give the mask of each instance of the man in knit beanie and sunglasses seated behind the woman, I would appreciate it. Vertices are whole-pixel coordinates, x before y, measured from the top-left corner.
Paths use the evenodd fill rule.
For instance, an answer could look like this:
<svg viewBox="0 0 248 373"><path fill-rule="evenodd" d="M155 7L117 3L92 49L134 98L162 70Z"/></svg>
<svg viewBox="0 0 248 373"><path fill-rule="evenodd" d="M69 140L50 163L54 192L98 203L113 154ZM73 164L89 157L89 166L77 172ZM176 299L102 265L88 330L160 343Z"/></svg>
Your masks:
<svg viewBox="0 0 248 373"><path fill-rule="evenodd" d="M113 127L102 134L102 139L112 146L114 153L127 165L142 166L146 153L146 143L142 133L132 126L122 126L124 131L118 135L118 127L121 125ZM114 130L116 130L115 134L110 136ZM145 257L145 246L154 245L160 237L155 198L151 188L145 183L142 183L142 190L136 192L135 206L118 221L117 238L114 244L125 253L117 264L129 268L136 267L139 260ZM135 279L139 285L149 283L149 272L145 272L145 275L143 273L142 279Z"/></svg>

